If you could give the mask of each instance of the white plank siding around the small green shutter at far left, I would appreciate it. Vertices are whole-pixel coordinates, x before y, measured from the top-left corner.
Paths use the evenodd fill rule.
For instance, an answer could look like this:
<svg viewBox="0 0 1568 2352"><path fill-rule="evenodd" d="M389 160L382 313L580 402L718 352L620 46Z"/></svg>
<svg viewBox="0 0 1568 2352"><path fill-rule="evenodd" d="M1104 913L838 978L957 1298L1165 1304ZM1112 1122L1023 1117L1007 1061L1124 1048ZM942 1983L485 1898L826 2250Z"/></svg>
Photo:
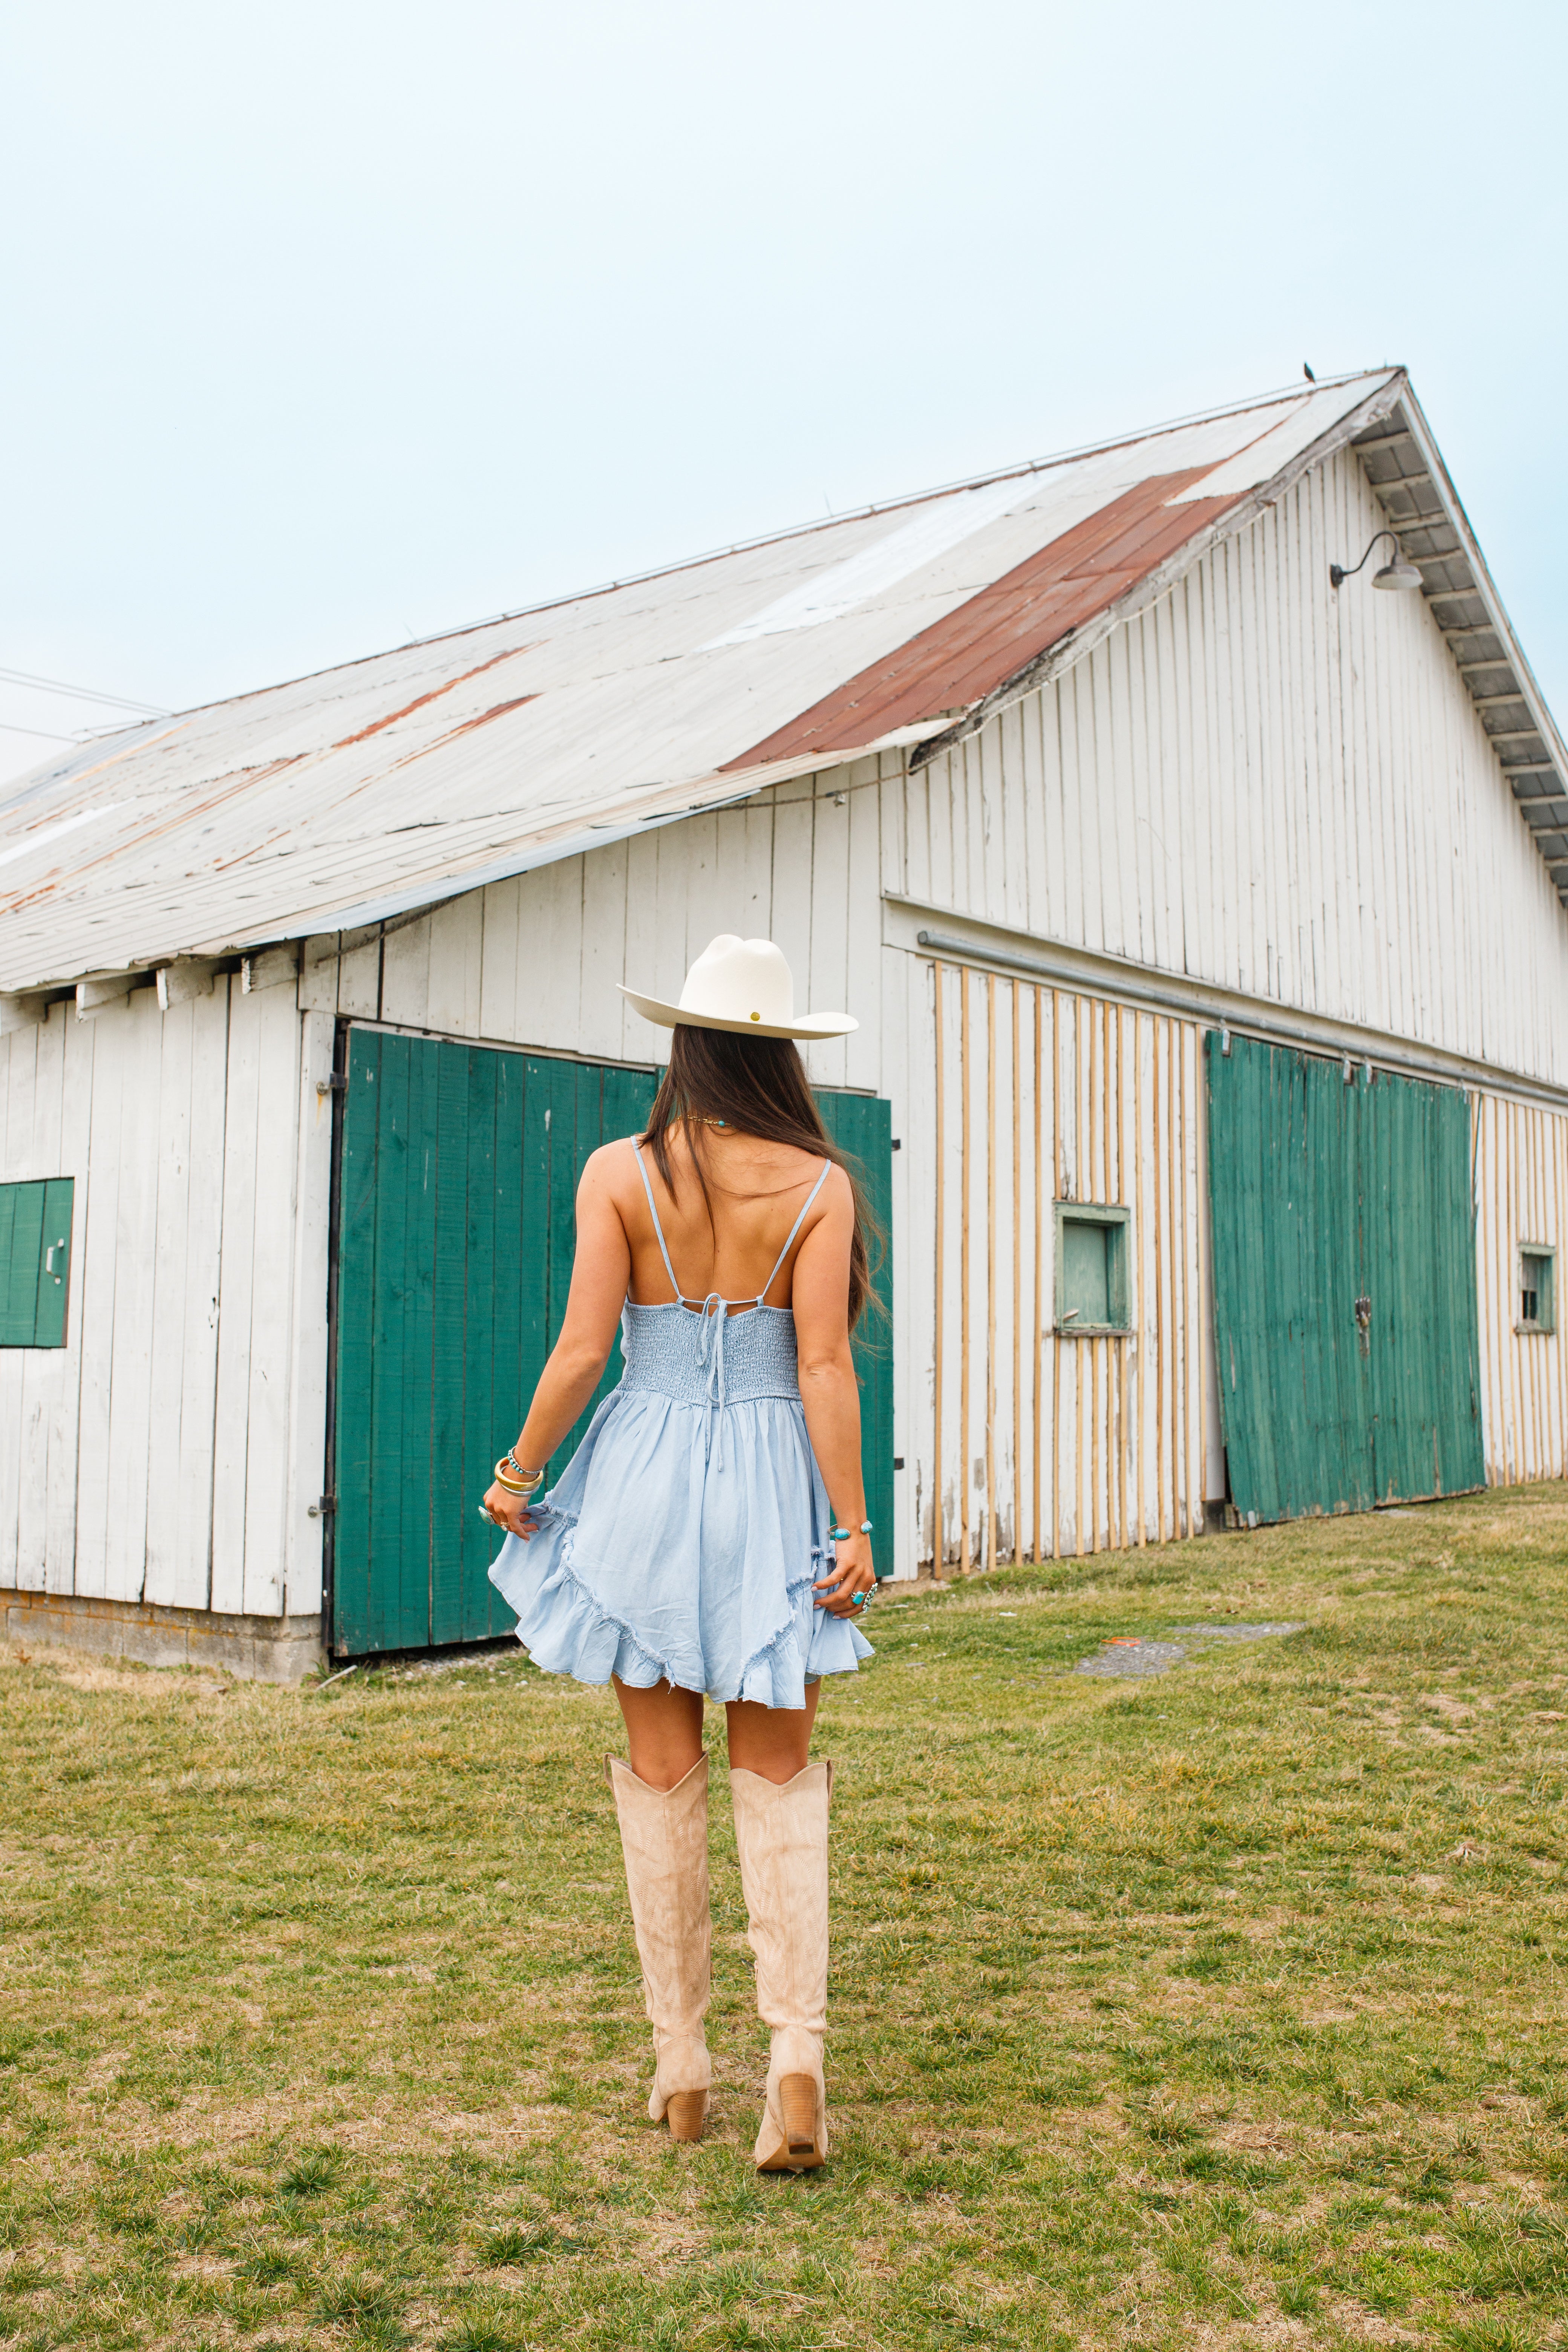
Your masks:
<svg viewBox="0 0 1568 2352"><path fill-rule="evenodd" d="M228 978L0 1037L0 1176L75 1178L68 1345L0 1350L0 1585L320 1606L329 1054Z"/></svg>

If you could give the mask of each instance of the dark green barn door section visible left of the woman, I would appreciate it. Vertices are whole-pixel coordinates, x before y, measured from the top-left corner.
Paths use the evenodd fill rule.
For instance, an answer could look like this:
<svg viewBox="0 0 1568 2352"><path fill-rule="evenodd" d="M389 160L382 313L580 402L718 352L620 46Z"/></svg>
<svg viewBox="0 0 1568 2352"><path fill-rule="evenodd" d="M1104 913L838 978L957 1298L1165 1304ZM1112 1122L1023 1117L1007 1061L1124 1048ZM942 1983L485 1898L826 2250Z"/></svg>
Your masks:
<svg viewBox="0 0 1568 2352"><path fill-rule="evenodd" d="M350 1030L343 1096L331 1644L510 1632L475 1503L567 1312L583 1162L654 1075ZM599 1392L564 1439L576 1446Z"/></svg>

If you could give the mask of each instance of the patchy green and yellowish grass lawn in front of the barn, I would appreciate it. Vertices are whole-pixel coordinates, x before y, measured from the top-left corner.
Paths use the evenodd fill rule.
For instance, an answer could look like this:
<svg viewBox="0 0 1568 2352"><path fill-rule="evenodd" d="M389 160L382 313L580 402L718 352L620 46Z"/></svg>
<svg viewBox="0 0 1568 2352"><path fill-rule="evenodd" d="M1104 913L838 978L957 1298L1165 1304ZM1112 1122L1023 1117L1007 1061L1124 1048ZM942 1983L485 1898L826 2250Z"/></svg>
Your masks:
<svg viewBox="0 0 1568 2352"><path fill-rule="evenodd" d="M609 1693L12 1646L0 2343L1563 2345L1566 1602L1563 1486L884 1595L799 2180L722 1752L677 2150Z"/></svg>

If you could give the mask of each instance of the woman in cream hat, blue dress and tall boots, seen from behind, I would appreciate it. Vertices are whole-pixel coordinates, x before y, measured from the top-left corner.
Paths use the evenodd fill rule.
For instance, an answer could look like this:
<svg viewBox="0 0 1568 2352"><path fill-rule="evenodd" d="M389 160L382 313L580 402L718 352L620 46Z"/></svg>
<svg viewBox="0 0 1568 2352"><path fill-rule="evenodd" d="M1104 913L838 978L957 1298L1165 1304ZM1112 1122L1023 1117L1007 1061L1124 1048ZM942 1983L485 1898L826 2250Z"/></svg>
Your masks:
<svg viewBox="0 0 1568 2352"><path fill-rule="evenodd" d="M703 1693L724 1703L757 2009L773 2030L759 2171L827 2154L827 1799L809 1762L823 1675L870 1658L860 1397L865 1216L823 1131L766 938L715 938L679 1004L642 1138L583 1169L567 1319L484 1496L508 1529L491 1581L534 1663L614 1682L630 1764L609 1759L654 2025L649 2117L703 2133L712 2070ZM625 1371L543 1501L543 1463L621 1329Z"/></svg>

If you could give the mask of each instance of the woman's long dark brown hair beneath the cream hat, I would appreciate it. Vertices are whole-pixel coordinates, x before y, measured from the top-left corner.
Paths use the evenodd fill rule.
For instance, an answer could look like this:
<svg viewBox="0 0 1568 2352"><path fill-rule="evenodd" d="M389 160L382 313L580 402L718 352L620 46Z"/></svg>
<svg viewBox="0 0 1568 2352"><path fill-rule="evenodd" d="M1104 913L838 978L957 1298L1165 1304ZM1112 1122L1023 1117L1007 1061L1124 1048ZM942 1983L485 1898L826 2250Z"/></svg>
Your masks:
<svg viewBox="0 0 1568 2352"><path fill-rule="evenodd" d="M792 1143L797 1150L832 1160L835 1167L844 1169L856 1195L856 1230L849 1244L849 1329L853 1331L867 1298L882 1305L872 1291L872 1247L877 1263L882 1263L882 1225L865 1200L858 1164L839 1150L823 1127L816 1096L806 1084L806 1065L792 1040L691 1028L686 1021L670 1033L670 1068L654 1096L642 1141L654 1152L654 1167L663 1176L665 1190L675 1197L670 1129L686 1127L691 1164L712 1225L712 1195L698 1150L701 1120L724 1120L736 1134L759 1136L764 1143Z"/></svg>

